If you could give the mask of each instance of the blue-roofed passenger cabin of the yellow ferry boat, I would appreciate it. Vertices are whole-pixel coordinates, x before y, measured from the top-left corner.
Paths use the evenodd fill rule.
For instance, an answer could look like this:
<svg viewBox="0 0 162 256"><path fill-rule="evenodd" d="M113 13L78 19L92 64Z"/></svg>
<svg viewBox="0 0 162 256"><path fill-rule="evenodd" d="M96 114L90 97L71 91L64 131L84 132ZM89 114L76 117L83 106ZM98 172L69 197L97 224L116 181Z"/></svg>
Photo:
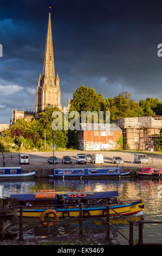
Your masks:
<svg viewBox="0 0 162 256"><path fill-rule="evenodd" d="M22 206L49 206L56 208L70 207L70 205L95 205L95 204L118 204L118 191L106 192L56 192L55 190L37 191L30 194L12 194L10 197L17 198L17 205ZM14 206L14 205L13 205Z"/></svg>

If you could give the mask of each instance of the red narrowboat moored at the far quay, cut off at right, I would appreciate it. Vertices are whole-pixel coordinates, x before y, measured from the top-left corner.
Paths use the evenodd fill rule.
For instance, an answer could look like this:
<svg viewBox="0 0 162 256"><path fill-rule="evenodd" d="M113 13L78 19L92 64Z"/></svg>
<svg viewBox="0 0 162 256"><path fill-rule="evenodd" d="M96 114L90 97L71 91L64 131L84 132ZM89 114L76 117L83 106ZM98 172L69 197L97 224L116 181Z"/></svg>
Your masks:
<svg viewBox="0 0 162 256"><path fill-rule="evenodd" d="M142 168L136 173L141 178L162 178L162 168Z"/></svg>

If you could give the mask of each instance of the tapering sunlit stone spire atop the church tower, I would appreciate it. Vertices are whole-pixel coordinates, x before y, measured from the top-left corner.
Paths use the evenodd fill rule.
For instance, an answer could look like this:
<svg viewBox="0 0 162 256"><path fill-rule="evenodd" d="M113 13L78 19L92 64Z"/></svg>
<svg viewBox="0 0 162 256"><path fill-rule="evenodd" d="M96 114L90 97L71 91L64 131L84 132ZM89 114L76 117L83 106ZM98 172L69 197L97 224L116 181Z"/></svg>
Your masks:
<svg viewBox="0 0 162 256"><path fill-rule="evenodd" d="M54 66L54 52L53 52L53 39L51 32L51 19L49 13L48 30L46 38L46 49L44 53L44 65L43 65L43 82L47 86L55 85L55 66Z"/></svg>

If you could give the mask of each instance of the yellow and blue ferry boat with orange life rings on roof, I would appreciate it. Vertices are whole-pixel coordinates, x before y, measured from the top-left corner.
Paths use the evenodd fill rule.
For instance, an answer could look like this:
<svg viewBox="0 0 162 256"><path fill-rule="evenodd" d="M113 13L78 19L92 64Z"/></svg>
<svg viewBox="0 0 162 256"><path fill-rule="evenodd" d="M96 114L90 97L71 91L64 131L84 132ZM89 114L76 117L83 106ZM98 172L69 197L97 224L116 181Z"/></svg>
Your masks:
<svg viewBox="0 0 162 256"><path fill-rule="evenodd" d="M83 217L105 217L106 205L111 208L109 212L111 217L118 216L116 212L121 215L133 215L139 212L140 215L144 209L143 199L121 201L118 191L38 190L36 193L11 194L10 197L17 199L18 206L27 206L23 208L24 217L40 217L48 208L56 211L59 218L79 217L80 203ZM113 209L116 212L112 211ZM18 216L20 216L19 211Z"/></svg>

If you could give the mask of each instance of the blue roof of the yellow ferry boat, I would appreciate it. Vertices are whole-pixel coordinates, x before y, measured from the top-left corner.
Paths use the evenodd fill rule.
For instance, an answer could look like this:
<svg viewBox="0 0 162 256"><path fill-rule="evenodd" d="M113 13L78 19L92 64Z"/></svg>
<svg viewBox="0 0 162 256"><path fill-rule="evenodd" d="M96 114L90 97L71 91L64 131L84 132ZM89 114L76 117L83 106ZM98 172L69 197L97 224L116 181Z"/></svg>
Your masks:
<svg viewBox="0 0 162 256"><path fill-rule="evenodd" d="M69 194L77 194L77 197L75 199L83 199L79 198L78 194L86 194L85 199L92 199L92 198L108 198L108 197L119 197L118 191L103 191L103 192L87 192L87 191L57 191L56 196L64 195L67 199L72 199L69 197ZM17 198L17 200L24 200L24 201L30 201L30 200L38 200L35 199L36 193L27 193L27 194L11 194L10 197Z"/></svg>

